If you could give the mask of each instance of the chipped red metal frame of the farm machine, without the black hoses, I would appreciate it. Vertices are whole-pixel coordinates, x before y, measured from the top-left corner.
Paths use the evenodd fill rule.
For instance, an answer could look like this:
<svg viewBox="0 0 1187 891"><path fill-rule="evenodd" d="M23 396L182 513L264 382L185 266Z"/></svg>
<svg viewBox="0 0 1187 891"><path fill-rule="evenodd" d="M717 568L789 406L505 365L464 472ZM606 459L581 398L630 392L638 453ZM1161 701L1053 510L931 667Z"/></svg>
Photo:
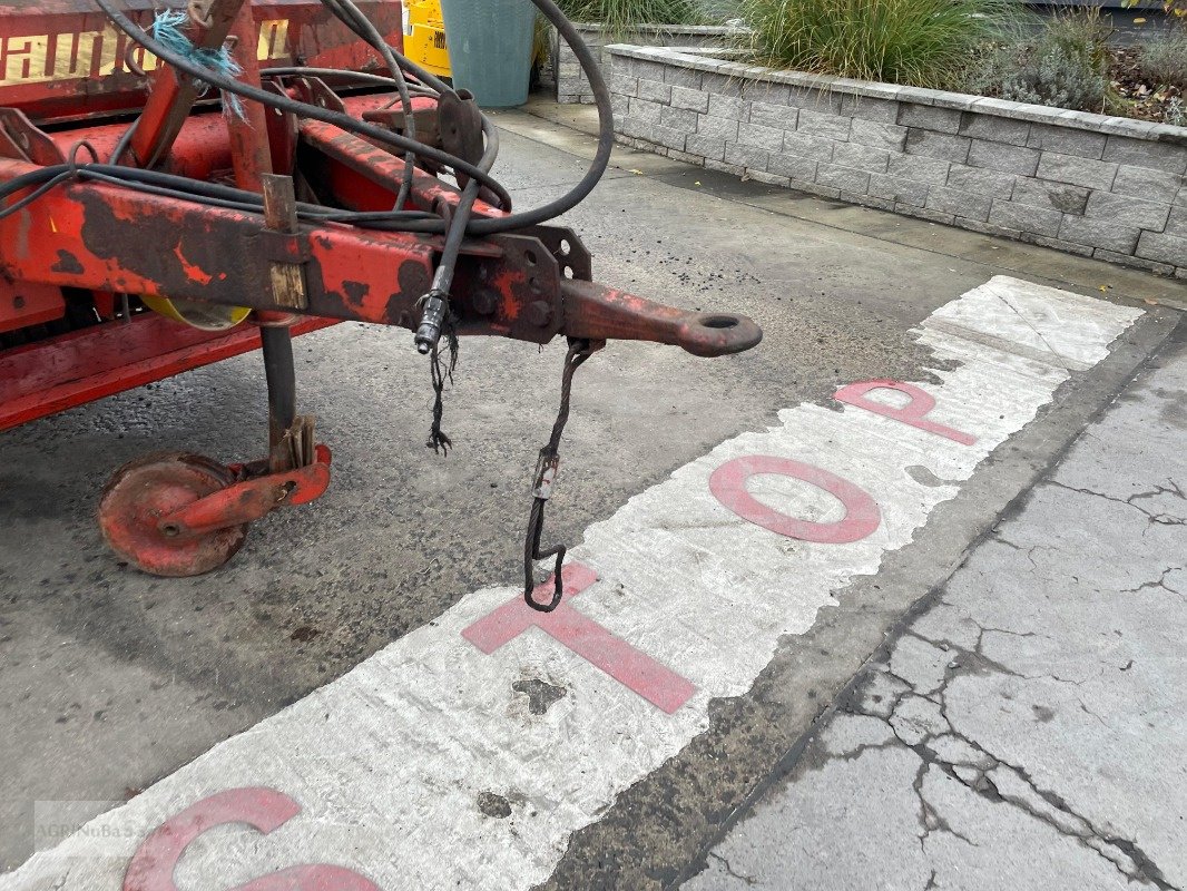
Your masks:
<svg viewBox="0 0 1187 891"><path fill-rule="evenodd" d="M128 5L147 23L151 2ZM399 4L362 5L399 45ZM215 49L231 38L240 78L256 88L264 86L261 59L379 68L317 0L207 0L189 8L190 39ZM307 72L267 88L315 97L355 119L404 124L391 95L342 97ZM438 107L418 97L418 121L481 151L477 113L458 96L446 99ZM291 335L342 320L415 329L444 246L440 235L300 221L298 179L326 208L391 209L406 166L383 140L255 102L245 102L242 115L204 110L202 102L198 84L131 45L91 12L90 0L43 0L36 12L0 0L0 183L66 159L83 163L83 144L87 154L106 159L127 124L100 119L138 109L121 163L230 179L262 195L262 213L248 213L80 176L0 219L0 335L36 337L30 326L37 323L85 324L0 349L0 430L262 347L266 460L231 472L185 453L150 456L121 468L104 489L100 518L108 543L160 575L220 565L242 544L249 522L325 491L330 454L315 443L312 417L297 415ZM52 133L43 129L50 125ZM434 171L432 164L413 170L408 207L446 219L461 194ZM480 201L472 213L499 217L508 209ZM589 253L570 229L470 239L452 279L451 318L468 335L535 343L557 335L647 340L705 356L747 349L761 337L748 318L686 312L590 278ZM265 328L198 330L131 311L140 297L169 298L174 308L246 307ZM78 309L85 312L71 312Z"/></svg>

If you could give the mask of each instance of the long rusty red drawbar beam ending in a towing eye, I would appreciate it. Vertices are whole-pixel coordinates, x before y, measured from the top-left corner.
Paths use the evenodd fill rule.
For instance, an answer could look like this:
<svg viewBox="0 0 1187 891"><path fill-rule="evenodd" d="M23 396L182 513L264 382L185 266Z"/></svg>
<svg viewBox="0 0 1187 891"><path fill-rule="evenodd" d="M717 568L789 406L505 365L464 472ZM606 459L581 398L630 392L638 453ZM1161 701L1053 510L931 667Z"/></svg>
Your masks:
<svg viewBox="0 0 1187 891"><path fill-rule="evenodd" d="M0 159L0 179L30 169ZM744 317L686 312L566 279L538 236L545 229L483 239L463 254L452 302L463 334L645 340L706 356L757 343L758 329ZM52 241L28 236L50 230ZM583 252L572 233L559 233ZM0 221L0 239L8 246L0 266L24 280L260 310L292 311L273 296L273 264L303 264L301 312L405 328L414 327L440 247L436 236L343 226L285 235L261 215L95 183L63 187Z"/></svg>

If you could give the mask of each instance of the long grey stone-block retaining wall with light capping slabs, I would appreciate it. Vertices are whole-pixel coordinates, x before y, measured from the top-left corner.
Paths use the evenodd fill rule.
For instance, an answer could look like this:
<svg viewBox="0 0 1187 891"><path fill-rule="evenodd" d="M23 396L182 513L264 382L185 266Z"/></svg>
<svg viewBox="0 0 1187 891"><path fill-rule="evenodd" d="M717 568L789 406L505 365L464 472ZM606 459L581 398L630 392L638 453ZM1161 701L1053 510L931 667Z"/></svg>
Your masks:
<svg viewBox="0 0 1187 891"><path fill-rule="evenodd" d="M620 140L1187 279L1187 128L611 45Z"/></svg>

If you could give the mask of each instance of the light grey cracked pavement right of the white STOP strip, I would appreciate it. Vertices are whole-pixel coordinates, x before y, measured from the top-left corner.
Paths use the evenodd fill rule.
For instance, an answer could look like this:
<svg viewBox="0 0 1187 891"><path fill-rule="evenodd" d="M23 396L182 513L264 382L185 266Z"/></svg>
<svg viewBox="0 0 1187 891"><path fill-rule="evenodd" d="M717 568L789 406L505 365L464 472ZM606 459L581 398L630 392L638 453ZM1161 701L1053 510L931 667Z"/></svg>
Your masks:
<svg viewBox="0 0 1187 891"><path fill-rule="evenodd" d="M1187 330L685 887L1187 885Z"/></svg>

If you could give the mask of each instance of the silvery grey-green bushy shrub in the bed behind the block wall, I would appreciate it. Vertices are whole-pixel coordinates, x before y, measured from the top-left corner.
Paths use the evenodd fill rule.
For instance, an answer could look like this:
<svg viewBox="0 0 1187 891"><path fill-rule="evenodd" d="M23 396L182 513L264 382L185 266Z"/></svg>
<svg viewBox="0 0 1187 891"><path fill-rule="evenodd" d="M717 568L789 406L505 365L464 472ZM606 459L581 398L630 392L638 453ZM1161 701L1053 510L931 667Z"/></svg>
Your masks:
<svg viewBox="0 0 1187 891"><path fill-rule="evenodd" d="M1096 8L1061 13L1036 34L1020 31L983 53L966 87L1015 102L1111 110L1110 32Z"/></svg>

